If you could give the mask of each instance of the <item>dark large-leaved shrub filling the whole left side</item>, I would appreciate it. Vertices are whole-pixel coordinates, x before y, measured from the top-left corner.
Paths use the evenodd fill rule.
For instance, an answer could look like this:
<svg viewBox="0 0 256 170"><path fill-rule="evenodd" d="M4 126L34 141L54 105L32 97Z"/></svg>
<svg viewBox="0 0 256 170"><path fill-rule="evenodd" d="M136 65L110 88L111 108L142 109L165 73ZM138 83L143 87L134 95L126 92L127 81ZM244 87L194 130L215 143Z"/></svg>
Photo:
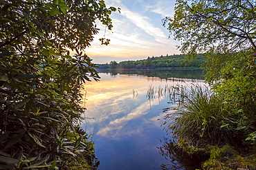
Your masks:
<svg viewBox="0 0 256 170"><path fill-rule="evenodd" d="M100 78L83 51L98 33L96 19L111 30L113 11L102 0L1 1L1 168L98 166L77 126L82 83Z"/></svg>

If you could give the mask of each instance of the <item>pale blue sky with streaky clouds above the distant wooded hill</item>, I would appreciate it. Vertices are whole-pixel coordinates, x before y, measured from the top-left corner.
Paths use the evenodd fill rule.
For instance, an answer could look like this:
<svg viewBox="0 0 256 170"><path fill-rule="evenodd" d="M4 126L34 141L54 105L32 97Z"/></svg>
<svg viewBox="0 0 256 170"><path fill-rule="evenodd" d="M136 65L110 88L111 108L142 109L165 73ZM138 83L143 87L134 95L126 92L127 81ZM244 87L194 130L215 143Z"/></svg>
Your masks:
<svg viewBox="0 0 256 170"><path fill-rule="evenodd" d="M162 19L174 15L175 0L105 0L105 3L121 10L111 14L112 30L104 33L105 26L97 23L100 31L86 49L93 63L180 54L176 50L179 42L172 36L169 39L170 32L162 23ZM109 45L101 45L99 39L103 37L111 40Z"/></svg>

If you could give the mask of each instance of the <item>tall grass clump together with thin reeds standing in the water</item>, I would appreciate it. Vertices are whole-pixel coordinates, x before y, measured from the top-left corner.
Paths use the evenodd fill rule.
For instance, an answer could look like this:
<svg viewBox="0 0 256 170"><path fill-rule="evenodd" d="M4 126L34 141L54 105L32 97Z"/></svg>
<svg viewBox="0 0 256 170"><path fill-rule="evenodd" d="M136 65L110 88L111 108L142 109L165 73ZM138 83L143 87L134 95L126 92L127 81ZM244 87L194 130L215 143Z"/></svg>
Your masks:
<svg viewBox="0 0 256 170"><path fill-rule="evenodd" d="M192 82L190 85L172 85L147 91L148 100L167 97L176 108L166 108L165 130L192 147L206 145L248 145L256 140L254 98L226 100L207 85ZM166 126L167 125L167 126ZM246 140L247 139L247 140ZM248 141L250 140L250 141Z"/></svg>

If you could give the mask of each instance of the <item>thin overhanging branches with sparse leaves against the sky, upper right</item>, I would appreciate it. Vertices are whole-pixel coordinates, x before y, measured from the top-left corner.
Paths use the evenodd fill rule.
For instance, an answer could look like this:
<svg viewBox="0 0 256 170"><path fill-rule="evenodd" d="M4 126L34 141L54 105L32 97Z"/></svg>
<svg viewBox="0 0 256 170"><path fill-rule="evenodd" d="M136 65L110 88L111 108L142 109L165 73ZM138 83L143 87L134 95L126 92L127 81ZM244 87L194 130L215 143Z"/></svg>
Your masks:
<svg viewBox="0 0 256 170"><path fill-rule="evenodd" d="M256 51L254 0L177 0L174 10L164 25L181 41L181 52Z"/></svg>

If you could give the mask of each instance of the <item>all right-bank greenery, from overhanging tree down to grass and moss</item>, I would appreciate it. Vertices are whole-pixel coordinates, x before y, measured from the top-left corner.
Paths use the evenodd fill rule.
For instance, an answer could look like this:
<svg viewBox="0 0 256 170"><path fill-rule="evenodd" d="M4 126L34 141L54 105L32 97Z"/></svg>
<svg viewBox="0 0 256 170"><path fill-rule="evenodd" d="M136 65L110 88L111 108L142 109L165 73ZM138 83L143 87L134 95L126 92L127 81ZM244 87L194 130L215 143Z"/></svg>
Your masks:
<svg viewBox="0 0 256 170"><path fill-rule="evenodd" d="M180 94L179 109L165 117L173 140L162 151L203 151L208 158L200 169L256 169L255 22L253 0L176 0L163 25L186 58L205 54L210 89L194 85Z"/></svg>

